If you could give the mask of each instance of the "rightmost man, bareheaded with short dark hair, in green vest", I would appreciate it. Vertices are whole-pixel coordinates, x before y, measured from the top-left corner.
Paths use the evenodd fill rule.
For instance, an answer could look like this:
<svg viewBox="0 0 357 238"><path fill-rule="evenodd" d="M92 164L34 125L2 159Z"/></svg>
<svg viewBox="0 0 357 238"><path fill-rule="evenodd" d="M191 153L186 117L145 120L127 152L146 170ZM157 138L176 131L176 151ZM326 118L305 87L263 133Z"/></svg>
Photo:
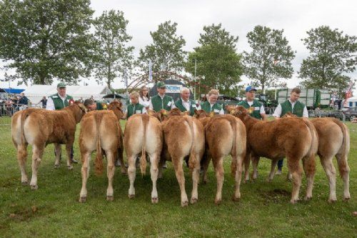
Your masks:
<svg viewBox="0 0 357 238"><path fill-rule="evenodd" d="M281 116L285 115L287 112L291 112L298 117L308 118L308 109L305 104L298 101L300 97L301 89L293 88L290 93L288 100L284 101L282 104L278 104L276 107L273 116L278 119ZM278 161L278 171L276 174L281 174L281 169L283 169L283 159Z"/></svg>

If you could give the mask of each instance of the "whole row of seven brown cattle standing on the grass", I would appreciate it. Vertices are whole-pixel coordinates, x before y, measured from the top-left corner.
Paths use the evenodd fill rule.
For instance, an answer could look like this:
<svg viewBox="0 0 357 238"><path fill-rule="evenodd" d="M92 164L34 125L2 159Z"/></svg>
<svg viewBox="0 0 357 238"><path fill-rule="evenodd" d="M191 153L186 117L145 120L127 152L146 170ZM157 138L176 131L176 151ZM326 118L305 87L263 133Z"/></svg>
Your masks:
<svg viewBox="0 0 357 238"><path fill-rule="evenodd" d="M328 177L330 187L329 202L336 201L336 170L333 157L336 157L338 169L343 179L343 199L350 199L349 134L345 124L336 119L301 119L286 117L271 122L263 122L249 116L242 106L228 106L230 114L208 115L205 111L196 111L191 117L178 109L171 111L149 111L149 114L135 114L126 123L124 136L119 119L123 115L121 103L114 101L108 111L86 113L82 104L74 104L60 111L44 109L26 109L14 114L11 121L12 140L17 149L17 159L21 169L21 182L27 184L25 170L26 147L31 144L32 177L31 188L37 189L37 169L46 144L54 143L56 164L59 165L59 144L66 144L67 166L71 165L71 148L74 143L76 124L81 121L79 147L81 152L82 188L79 202L87 197L86 182L89 177L91 153L96 151L96 173L104 169L103 158L107 158L107 176L109 180L106 196L114 199L113 178L114 164L119 159L124 164L126 152L129 168L129 197L135 197L134 181L136 177L136 158L140 157L141 173L146 172L146 155L149 156L152 180L151 202L159 202L156 181L162 177L165 161L174 165L176 178L181 190L181 206L188 205L183 175L183 161L191 169L193 188L191 204L198 200L199 172L203 168L203 182L207 182L208 164L212 161L217 179L216 204L221 203L223 187L223 159L231 155L231 174L235 178L233 200L241 198L240 184L244 166L243 181L249 179L248 168L252 161L253 179L257 177L260 157L271 159L271 173L279 159L286 157L288 169L293 180L291 203L298 201L303 171L306 174L307 188L305 199L311 199L313 178L316 172L316 154ZM300 162L302 161L303 169ZM121 172L126 168L121 166Z"/></svg>

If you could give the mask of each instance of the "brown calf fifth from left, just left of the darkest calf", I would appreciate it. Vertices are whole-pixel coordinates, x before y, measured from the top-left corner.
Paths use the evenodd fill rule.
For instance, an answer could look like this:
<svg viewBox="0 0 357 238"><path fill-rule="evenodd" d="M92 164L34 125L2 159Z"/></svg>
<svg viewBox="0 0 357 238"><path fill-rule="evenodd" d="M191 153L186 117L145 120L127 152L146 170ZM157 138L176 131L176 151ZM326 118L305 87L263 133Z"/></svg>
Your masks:
<svg viewBox="0 0 357 238"><path fill-rule="evenodd" d="M236 185L233 201L241 198L240 185L243 159L246 156L246 127L231 115L213 116L204 127L209 156L216 172L217 192L214 202L220 204L224 180L223 159L231 154L231 173Z"/></svg>

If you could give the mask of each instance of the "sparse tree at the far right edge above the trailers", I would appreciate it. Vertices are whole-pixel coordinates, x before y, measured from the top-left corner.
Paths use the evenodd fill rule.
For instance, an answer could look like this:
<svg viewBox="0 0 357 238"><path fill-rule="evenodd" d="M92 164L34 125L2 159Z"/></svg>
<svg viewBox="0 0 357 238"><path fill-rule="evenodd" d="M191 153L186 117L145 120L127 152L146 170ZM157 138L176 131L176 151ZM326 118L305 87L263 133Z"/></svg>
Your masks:
<svg viewBox="0 0 357 238"><path fill-rule="evenodd" d="M337 89L340 96L352 79L346 75L356 69L356 36L343 35L343 31L319 26L307 31L302 39L310 51L303 59L299 77L307 88Z"/></svg>

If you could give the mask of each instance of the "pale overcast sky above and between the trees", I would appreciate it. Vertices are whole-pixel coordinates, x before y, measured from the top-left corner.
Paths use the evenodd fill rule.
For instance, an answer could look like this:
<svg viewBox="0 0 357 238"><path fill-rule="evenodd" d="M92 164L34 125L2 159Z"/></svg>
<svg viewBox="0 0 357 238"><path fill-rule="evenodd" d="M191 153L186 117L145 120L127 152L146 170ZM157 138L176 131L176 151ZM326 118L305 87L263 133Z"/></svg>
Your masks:
<svg viewBox="0 0 357 238"><path fill-rule="evenodd" d="M256 25L271 29L283 29L283 35L296 51L293 68L298 71L308 51L301 39L306 31L321 25L339 29L348 35L357 36L357 1L136 1L136 0L91 0L94 16L103 11L115 9L124 11L129 20L128 32L133 39L135 54L151 44L150 31L156 31L164 21L178 23L177 34L186 40L186 51L197 46L203 26L219 24L234 36L239 36L237 51L249 51L246 34ZM356 71L351 74L357 78ZM94 80L89 81L95 84ZM15 83L11 83L15 84ZM296 86L296 74L288 86ZM11 85L12 86L12 85ZM15 85L14 85L15 86ZM114 87L121 86L119 82Z"/></svg>

